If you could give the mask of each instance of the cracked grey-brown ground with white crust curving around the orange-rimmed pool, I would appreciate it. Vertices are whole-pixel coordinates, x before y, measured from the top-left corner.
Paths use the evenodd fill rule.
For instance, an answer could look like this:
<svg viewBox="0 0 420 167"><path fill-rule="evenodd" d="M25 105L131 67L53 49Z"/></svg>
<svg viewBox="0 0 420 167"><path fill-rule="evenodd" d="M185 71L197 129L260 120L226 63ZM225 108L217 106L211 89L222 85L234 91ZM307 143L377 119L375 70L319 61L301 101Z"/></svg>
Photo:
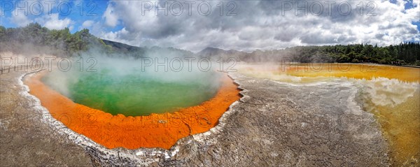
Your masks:
<svg viewBox="0 0 420 167"><path fill-rule="evenodd" d="M243 96L210 131L182 138L170 150L109 150L53 119L27 93L25 75L1 75L1 166L389 166L379 124L372 114L353 108L357 89L342 80L296 86L230 73ZM13 114L37 117L6 123L15 119ZM24 124L31 126L19 133L45 138L54 149L22 157L24 151L36 154L51 148L39 147L41 139L35 137L20 140L27 150L13 149L18 142L13 129ZM42 129L33 129L35 125ZM36 159L57 162L38 164Z"/></svg>

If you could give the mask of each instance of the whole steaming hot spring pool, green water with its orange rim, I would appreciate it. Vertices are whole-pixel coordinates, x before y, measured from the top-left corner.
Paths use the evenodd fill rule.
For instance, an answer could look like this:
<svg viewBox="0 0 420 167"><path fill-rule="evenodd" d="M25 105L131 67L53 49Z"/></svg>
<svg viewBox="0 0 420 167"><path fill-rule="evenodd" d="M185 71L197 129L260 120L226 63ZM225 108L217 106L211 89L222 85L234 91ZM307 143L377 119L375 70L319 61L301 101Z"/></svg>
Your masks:
<svg viewBox="0 0 420 167"><path fill-rule="evenodd" d="M52 117L107 148L170 149L216 126L241 97L225 73L142 72L124 64L94 73L42 71L24 83Z"/></svg>

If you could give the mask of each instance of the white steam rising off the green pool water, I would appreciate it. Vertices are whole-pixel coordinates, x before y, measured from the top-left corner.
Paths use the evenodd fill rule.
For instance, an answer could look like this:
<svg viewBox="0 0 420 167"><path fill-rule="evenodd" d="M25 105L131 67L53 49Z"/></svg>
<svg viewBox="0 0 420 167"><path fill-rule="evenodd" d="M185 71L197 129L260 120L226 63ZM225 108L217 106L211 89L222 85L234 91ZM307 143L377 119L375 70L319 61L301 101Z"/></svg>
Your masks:
<svg viewBox="0 0 420 167"><path fill-rule="evenodd" d="M176 61L171 61L174 59ZM110 82L116 89L132 82L124 79L127 77L167 85L195 85L200 89L209 89L208 91L216 91L221 86L221 73L217 72L216 62L186 57L170 50L155 50L142 57L104 55L97 50L89 50L78 57L69 58L69 61L69 71L63 70L68 68L68 63L62 63L61 66L58 64L44 76L43 82L70 99L73 99L71 87L78 82L87 82L90 77L99 77L104 82ZM102 87L94 85L94 89Z"/></svg>

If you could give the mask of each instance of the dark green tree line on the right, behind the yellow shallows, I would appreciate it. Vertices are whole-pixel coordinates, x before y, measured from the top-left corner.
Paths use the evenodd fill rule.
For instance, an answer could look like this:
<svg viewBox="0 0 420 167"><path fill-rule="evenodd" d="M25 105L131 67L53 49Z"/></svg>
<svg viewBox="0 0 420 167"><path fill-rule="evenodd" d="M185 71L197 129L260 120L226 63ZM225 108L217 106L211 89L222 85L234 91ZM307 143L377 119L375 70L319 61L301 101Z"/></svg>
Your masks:
<svg viewBox="0 0 420 167"><path fill-rule="evenodd" d="M283 50L255 50L244 61L377 63L420 66L420 43L378 47L368 44L297 46Z"/></svg>

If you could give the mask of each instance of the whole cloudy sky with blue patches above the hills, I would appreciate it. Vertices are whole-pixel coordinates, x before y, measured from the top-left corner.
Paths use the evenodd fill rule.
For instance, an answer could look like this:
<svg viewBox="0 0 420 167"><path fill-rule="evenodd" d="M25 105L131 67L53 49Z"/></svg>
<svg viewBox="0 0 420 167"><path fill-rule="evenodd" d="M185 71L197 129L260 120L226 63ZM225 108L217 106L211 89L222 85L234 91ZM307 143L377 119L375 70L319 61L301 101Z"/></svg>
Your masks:
<svg viewBox="0 0 420 167"><path fill-rule="evenodd" d="M4 27L31 22L136 46L243 51L420 41L414 1L0 1Z"/></svg>

